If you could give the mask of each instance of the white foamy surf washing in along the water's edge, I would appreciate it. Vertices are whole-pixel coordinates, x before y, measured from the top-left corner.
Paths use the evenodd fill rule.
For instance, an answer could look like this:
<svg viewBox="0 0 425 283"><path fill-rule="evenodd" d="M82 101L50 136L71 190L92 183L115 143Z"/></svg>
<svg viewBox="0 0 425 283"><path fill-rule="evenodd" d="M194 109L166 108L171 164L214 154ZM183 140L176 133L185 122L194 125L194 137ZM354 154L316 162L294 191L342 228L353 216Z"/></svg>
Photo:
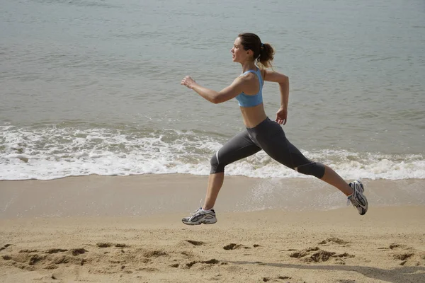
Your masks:
<svg viewBox="0 0 425 283"><path fill-rule="evenodd" d="M0 127L0 180L51 180L80 175L186 173L208 175L222 137L164 129ZM302 151L343 178L425 178L422 154L381 154L344 149ZM226 167L227 175L311 178L260 151Z"/></svg>

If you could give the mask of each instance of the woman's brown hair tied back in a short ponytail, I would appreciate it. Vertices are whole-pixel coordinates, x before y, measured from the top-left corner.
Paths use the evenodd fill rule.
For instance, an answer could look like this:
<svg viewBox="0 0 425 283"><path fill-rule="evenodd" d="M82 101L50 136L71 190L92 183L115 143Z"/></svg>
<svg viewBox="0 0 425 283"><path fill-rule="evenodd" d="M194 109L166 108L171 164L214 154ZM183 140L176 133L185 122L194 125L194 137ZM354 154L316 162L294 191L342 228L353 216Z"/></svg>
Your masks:
<svg viewBox="0 0 425 283"><path fill-rule="evenodd" d="M259 62L263 67L270 68L273 60L274 50L268 43L262 43L260 37L254 33L241 33L238 35L244 50L254 52L254 61Z"/></svg>

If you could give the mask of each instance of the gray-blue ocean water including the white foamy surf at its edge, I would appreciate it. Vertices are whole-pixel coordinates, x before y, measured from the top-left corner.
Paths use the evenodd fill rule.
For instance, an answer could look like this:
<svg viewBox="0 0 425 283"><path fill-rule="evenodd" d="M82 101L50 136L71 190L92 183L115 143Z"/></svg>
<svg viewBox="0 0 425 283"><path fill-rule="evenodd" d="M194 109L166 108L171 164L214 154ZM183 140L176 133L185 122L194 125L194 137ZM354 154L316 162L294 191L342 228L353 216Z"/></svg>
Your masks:
<svg viewBox="0 0 425 283"><path fill-rule="evenodd" d="M288 139L344 178L425 178L425 2L0 0L0 180L207 175L244 129L229 50L257 33L290 78ZM263 89L273 119L278 86ZM308 178L263 152L229 175Z"/></svg>

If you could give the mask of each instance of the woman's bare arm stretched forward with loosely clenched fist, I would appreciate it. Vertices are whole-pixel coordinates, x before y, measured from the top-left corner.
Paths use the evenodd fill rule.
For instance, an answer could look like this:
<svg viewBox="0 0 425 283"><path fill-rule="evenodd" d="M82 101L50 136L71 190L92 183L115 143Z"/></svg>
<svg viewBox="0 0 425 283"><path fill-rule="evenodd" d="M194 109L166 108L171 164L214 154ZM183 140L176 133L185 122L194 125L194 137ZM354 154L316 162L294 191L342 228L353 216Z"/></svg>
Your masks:
<svg viewBox="0 0 425 283"><path fill-rule="evenodd" d="M230 86L223 88L222 91L213 91L212 89L200 86L190 76L186 76L183 78L183 80L181 80L180 84L193 89L193 91L196 91L200 96L202 96L206 100L217 104L230 100L236 97L239 93L242 93L243 83L244 79L242 77L238 77L233 81Z"/></svg>

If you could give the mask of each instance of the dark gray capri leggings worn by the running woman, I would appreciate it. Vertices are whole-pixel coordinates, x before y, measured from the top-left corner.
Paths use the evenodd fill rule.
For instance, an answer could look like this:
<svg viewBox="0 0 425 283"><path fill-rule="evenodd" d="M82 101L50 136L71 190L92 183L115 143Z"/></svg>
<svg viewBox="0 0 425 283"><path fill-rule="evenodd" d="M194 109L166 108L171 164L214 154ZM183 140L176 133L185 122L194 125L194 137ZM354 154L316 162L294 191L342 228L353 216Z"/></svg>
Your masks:
<svg viewBox="0 0 425 283"><path fill-rule="evenodd" d="M312 162L291 144L278 123L266 119L254 128L246 128L219 149L211 158L210 174L225 171L227 164L256 154L261 149L283 165L305 175L321 179L324 165Z"/></svg>

